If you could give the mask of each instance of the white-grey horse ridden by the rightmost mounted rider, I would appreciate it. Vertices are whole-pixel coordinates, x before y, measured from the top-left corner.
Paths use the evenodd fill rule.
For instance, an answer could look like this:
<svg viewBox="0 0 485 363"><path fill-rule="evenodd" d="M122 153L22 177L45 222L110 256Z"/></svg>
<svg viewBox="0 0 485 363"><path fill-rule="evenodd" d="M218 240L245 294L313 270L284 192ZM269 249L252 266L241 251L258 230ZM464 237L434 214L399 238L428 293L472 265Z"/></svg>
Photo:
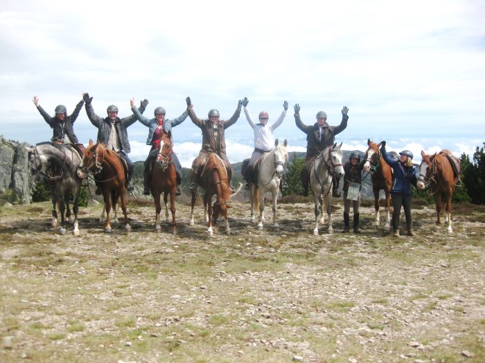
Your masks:
<svg viewBox="0 0 485 363"><path fill-rule="evenodd" d="M319 214L320 223L325 222L324 207L328 215L328 233L333 233L332 227L332 176L342 178L344 165L342 164L342 142L340 145L333 144L326 147L310 167L310 186L312 187L313 200L315 202L315 229L313 234L318 236Z"/></svg>

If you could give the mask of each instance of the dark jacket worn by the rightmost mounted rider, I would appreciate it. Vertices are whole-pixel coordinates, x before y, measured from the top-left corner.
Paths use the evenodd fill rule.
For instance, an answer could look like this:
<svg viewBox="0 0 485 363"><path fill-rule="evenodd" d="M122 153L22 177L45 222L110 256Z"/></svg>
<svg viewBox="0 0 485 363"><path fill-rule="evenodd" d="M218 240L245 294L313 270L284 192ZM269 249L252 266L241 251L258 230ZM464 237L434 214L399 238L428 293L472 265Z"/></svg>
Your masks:
<svg viewBox="0 0 485 363"><path fill-rule="evenodd" d="M306 133L306 160L317 156L326 147L333 145L335 142L335 135L341 133L347 127L348 115L342 115L342 122L338 126L329 126L326 122L321 128L318 123L307 126L301 122L300 113L294 114L294 122L297 127Z"/></svg>

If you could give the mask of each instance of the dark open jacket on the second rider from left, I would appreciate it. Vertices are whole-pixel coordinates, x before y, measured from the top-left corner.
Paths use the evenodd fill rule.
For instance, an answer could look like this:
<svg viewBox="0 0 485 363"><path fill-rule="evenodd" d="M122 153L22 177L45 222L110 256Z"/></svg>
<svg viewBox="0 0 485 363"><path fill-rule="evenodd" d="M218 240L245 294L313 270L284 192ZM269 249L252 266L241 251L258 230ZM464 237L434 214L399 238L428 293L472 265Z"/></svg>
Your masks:
<svg viewBox="0 0 485 363"><path fill-rule="evenodd" d="M140 113L145 111L145 107L140 106L139 108ZM118 137L121 143L121 149L125 153L130 153L130 142L128 141L128 132L127 127L130 127L132 124L136 122L136 118L134 115L128 116L126 118L116 118L116 122L112 122L109 118L101 118L100 116L96 115L93 110L93 106L91 106L91 102L86 104L86 113L89 121L91 124L94 124L98 128L98 142L102 142L103 144L107 145L109 141L109 135L111 134L112 127L116 127L116 131L118 132Z"/></svg>

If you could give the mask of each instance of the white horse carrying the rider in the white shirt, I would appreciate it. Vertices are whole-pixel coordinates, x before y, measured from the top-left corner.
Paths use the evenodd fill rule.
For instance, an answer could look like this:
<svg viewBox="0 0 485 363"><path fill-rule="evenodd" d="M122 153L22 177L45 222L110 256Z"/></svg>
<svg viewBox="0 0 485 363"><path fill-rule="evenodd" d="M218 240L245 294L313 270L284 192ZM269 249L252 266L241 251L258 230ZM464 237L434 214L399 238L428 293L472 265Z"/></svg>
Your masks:
<svg viewBox="0 0 485 363"><path fill-rule="evenodd" d="M258 167L257 183L252 183L250 190L251 199L251 221L254 222L254 211L259 209L258 230L263 230L263 211L265 210L265 194L271 192L273 197L273 227L278 228L278 219L276 217L276 198L278 197L279 184L285 165L288 163L288 141L285 139L283 145L279 140L274 142L274 149L261 156L261 162Z"/></svg>

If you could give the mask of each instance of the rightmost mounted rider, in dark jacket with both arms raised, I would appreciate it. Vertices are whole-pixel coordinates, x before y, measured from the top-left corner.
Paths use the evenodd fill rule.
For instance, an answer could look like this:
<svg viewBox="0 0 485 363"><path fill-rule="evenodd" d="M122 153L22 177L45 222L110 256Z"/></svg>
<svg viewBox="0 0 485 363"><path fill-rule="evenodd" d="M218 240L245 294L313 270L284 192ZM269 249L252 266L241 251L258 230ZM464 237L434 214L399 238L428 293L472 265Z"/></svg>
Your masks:
<svg viewBox="0 0 485 363"><path fill-rule="evenodd" d="M326 122L327 114L324 111L319 111L317 113L317 122L311 126L307 126L301 122L300 118L300 106L299 104L294 105L294 122L297 127L306 133L306 158L305 165L301 169L301 185L303 190L299 192L302 196L308 196L308 181L310 175L310 166L315 158L321 151L326 147L332 146L335 142L335 135L341 133L347 127L347 120L349 120L349 108L344 106L342 109L342 122L339 126L329 126ZM340 180L333 178L333 196L340 198L340 193L338 192Z"/></svg>

